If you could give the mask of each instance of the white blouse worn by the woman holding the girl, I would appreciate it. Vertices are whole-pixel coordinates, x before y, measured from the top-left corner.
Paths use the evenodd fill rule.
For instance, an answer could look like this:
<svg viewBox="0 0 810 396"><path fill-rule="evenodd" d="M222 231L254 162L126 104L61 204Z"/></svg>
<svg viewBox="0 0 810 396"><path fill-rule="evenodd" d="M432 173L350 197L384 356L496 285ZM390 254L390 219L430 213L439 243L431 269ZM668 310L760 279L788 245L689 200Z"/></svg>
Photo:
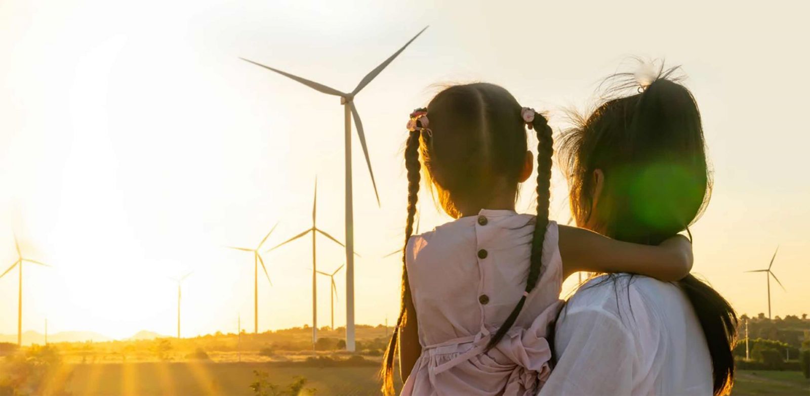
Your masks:
<svg viewBox="0 0 810 396"><path fill-rule="evenodd" d="M540 396L711 395L706 338L679 287L645 276L590 280L556 322Z"/></svg>

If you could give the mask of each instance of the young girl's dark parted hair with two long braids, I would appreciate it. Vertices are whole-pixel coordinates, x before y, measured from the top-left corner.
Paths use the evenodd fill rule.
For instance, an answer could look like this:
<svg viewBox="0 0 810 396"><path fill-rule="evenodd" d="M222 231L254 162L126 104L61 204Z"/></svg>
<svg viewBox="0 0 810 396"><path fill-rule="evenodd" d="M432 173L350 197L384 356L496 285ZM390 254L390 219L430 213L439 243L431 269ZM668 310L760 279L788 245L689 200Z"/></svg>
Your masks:
<svg viewBox="0 0 810 396"><path fill-rule="evenodd" d="M382 391L394 394L394 358L399 330L407 321L406 302L411 301L408 284L407 242L413 232L416 201L420 183L420 154L425 176L438 192L444 210L454 218L461 217L459 202L484 198L488 191L511 189L517 196L518 183L526 158L526 123L518 100L503 87L489 83L471 83L447 87L428 104L429 132L411 131L405 143L408 199L403 254L403 290L399 319L383 357ZM537 113L531 122L538 139L537 219L531 243L531 265L525 291L531 292L540 275L543 241L548 227L549 184L552 167L552 130L545 117ZM419 124L419 126L421 126ZM489 340L488 348L500 341L512 327L523 304L524 295Z"/></svg>

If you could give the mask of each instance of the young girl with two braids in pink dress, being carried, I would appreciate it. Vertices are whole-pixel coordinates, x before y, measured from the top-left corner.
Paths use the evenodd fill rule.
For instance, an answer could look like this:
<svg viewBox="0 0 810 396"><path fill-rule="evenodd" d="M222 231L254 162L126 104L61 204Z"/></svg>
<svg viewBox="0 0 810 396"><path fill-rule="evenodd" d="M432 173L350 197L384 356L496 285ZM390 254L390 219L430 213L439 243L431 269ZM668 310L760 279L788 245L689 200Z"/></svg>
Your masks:
<svg viewBox="0 0 810 396"><path fill-rule="evenodd" d="M403 292L383 360L386 395L394 393L398 345L403 394L536 394L550 373L549 326L568 275L676 280L689 273L684 237L635 245L549 221L552 130L504 88L446 88L411 113L407 127ZM518 185L532 171L527 127L539 141L536 216L514 211ZM411 238L420 154L442 208L456 220Z"/></svg>

